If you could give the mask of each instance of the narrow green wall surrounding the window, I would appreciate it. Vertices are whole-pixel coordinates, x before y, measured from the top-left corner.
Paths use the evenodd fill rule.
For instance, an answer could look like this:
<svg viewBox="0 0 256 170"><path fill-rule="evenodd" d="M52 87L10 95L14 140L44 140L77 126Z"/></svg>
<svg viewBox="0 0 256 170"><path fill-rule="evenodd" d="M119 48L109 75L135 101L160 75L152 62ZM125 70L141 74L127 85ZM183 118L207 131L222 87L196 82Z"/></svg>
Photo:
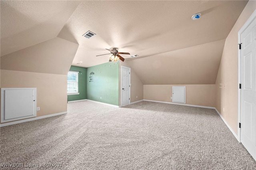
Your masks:
<svg viewBox="0 0 256 170"><path fill-rule="evenodd" d="M71 66L69 70L70 71L82 71L82 74L78 73L78 92L80 94L79 95L68 95L68 101L86 99L87 98L87 94L86 94L87 68Z"/></svg>

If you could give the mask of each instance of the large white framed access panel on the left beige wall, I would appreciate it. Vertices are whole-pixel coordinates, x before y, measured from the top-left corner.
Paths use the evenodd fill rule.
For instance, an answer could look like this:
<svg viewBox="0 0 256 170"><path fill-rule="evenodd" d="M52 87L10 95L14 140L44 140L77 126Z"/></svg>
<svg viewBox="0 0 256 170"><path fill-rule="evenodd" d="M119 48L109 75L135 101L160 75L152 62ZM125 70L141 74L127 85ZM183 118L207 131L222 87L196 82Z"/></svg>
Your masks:
<svg viewBox="0 0 256 170"><path fill-rule="evenodd" d="M36 117L36 88L1 88L1 123Z"/></svg>

